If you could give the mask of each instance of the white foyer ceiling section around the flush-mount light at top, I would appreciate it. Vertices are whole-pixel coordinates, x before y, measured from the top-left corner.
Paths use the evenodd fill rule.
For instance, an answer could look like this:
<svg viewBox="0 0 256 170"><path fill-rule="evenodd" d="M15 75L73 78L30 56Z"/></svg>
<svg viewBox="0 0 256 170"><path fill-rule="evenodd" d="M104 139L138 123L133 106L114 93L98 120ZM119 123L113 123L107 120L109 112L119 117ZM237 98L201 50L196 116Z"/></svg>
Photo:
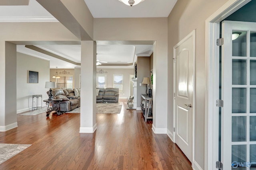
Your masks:
<svg viewBox="0 0 256 170"><path fill-rule="evenodd" d="M177 2L177 0L144 0L131 7L119 0L84 1L94 18L168 17Z"/></svg>

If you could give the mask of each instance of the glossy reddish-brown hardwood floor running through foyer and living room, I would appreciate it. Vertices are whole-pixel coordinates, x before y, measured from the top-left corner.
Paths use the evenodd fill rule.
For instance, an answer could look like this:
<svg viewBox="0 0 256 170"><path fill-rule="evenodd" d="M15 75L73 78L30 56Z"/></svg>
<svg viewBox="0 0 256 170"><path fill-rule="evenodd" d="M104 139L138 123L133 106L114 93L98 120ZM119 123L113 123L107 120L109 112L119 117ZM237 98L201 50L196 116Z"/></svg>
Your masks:
<svg viewBox="0 0 256 170"><path fill-rule="evenodd" d="M141 111L126 104L120 114L97 114L94 133L79 133L79 113L17 119L17 128L0 132L0 143L32 146L0 170L192 170L177 145L154 134L152 121L145 123Z"/></svg>

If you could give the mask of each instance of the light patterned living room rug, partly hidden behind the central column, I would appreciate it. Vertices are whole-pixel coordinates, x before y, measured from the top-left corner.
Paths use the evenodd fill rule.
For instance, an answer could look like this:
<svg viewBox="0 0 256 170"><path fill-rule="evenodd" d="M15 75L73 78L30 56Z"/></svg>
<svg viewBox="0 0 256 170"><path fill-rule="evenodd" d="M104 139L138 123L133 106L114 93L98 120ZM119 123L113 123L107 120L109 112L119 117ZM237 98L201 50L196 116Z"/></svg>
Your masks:
<svg viewBox="0 0 256 170"><path fill-rule="evenodd" d="M96 103L96 113L120 113L123 102L119 103ZM80 113L80 107L66 113Z"/></svg>

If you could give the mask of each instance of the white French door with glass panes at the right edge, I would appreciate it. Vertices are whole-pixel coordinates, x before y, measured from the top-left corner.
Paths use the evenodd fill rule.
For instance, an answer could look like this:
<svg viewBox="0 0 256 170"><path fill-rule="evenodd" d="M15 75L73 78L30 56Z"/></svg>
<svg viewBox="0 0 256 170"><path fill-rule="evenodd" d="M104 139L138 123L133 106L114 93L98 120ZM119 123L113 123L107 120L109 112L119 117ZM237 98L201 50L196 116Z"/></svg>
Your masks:
<svg viewBox="0 0 256 170"><path fill-rule="evenodd" d="M256 23L223 21L221 162L256 169Z"/></svg>

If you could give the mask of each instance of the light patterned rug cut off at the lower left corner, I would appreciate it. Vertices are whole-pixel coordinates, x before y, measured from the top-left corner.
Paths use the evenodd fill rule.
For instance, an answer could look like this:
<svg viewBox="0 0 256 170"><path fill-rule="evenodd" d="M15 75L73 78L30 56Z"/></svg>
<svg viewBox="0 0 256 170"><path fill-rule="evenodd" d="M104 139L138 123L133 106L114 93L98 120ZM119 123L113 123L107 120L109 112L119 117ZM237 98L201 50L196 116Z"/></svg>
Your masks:
<svg viewBox="0 0 256 170"><path fill-rule="evenodd" d="M20 153L22 150L25 150L30 146L31 145L28 144L0 143L0 164L12 158L12 156L15 156L16 154Z"/></svg>

